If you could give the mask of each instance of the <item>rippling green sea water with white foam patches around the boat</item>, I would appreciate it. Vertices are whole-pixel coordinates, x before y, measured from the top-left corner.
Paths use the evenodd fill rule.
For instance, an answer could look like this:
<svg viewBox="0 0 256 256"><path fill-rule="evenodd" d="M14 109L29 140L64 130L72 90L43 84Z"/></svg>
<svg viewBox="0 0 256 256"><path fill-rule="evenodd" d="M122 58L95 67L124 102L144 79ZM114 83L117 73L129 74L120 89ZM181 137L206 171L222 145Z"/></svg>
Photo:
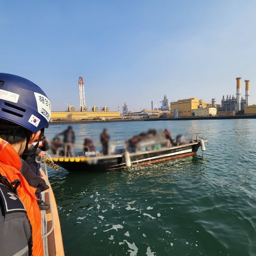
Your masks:
<svg viewBox="0 0 256 256"><path fill-rule="evenodd" d="M256 255L256 120L74 124L77 145L99 142L104 127L113 141L167 128L173 137L204 133L209 144L195 156L110 172L49 167L66 255Z"/></svg>

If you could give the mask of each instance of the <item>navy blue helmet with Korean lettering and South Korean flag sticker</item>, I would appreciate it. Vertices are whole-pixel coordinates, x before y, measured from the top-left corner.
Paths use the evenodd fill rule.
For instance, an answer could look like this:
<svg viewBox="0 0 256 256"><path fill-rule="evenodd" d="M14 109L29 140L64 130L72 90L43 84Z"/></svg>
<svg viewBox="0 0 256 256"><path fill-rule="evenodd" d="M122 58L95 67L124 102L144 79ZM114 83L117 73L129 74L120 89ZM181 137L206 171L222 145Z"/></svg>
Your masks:
<svg viewBox="0 0 256 256"><path fill-rule="evenodd" d="M36 133L49 126L51 102L35 83L6 73L0 73L0 122Z"/></svg>

